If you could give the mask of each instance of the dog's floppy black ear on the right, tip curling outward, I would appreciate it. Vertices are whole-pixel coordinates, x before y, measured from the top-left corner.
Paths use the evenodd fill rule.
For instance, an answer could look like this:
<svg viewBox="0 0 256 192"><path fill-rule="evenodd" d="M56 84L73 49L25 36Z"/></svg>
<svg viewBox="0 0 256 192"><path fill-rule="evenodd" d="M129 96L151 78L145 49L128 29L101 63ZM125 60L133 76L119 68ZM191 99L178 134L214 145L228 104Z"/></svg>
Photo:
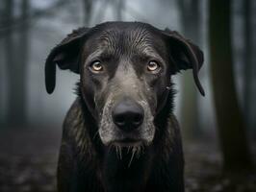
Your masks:
<svg viewBox="0 0 256 192"><path fill-rule="evenodd" d="M180 70L192 69L194 83L204 96L204 89L198 79L198 71L204 61L203 52L191 40L184 38L175 31L166 28L163 34L167 38L171 59L176 64L175 73Z"/></svg>

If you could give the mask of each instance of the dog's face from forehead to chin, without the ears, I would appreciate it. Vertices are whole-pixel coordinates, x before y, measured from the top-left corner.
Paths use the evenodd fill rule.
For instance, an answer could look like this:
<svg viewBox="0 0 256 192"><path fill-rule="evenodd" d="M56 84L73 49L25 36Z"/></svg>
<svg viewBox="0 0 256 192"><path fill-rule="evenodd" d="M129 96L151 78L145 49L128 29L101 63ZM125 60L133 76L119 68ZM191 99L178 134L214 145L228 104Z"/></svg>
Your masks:
<svg viewBox="0 0 256 192"><path fill-rule="evenodd" d="M100 26L85 43L82 93L104 144L152 142L154 115L170 85L164 46L150 29L127 24Z"/></svg>

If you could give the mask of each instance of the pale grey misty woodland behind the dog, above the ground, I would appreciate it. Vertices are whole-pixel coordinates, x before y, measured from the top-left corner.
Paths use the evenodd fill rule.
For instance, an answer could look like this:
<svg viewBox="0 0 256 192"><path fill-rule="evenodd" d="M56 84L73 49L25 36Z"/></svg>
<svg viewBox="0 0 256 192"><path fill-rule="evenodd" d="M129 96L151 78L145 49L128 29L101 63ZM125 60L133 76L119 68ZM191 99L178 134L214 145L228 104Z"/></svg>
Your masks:
<svg viewBox="0 0 256 192"><path fill-rule="evenodd" d="M180 11L184 9L179 5L180 2L182 1L160 0L149 3L147 0L96 0L91 1L90 12L86 12L87 5L83 0L2 1L0 3L1 127L6 127L4 125L8 127L9 124L20 126L20 123L33 127L53 124L59 126L64 119L65 112L76 97L73 88L79 77L69 71L58 70L57 88L53 95L48 95L44 86L44 61L50 50L73 29L81 26L93 27L105 21L123 20L147 22L160 29L168 27L191 38L201 47L205 55L205 62L199 75L206 91L206 97L203 98L198 93L193 93L197 90L192 82L192 71L182 72L174 80L178 90L175 113L179 116L180 121L184 120L183 117L181 118L183 116L181 111L183 100L181 98L186 97L188 93L193 93L196 97L196 107L193 106L192 111L198 113L197 118L201 131L211 132L211 134L215 132L215 110L209 78L207 1L193 1L192 4L197 5L192 6L198 8L196 8L197 10L192 8L192 12L189 10L185 12L189 15L183 15L185 13ZM252 4L256 4L255 1L252 1ZM9 6L12 7L10 11L7 9ZM240 106L249 116L247 117L249 127L256 128L256 119L253 118L253 114L256 112L256 102L253 99L256 97L256 65L252 64L249 77L245 76L247 64L245 64L244 41L246 34L243 26L245 14L243 1L234 1L232 7L236 88ZM251 8L255 9L255 5L252 5ZM255 18L255 12L252 14L254 15L251 17ZM255 32L255 22L254 19L251 23L253 32ZM255 38L255 36L251 36L253 42L255 42ZM254 43L254 50L255 46ZM255 63L255 55L252 55L251 60L252 63ZM250 81L249 91L244 90L246 79ZM186 83L188 85L184 88ZM186 88L190 89L190 92L185 90ZM187 91L186 95L183 94L183 91ZM245 96L245 93L249 96ZM251 101L248 101L250 105L245 107L246 98ZM192 102L191 99L194 100L194 98L186 98L188 102ZM191 109L188 110L191 112ZM252 129L253 135L255 135L254 130Z"/></svg>

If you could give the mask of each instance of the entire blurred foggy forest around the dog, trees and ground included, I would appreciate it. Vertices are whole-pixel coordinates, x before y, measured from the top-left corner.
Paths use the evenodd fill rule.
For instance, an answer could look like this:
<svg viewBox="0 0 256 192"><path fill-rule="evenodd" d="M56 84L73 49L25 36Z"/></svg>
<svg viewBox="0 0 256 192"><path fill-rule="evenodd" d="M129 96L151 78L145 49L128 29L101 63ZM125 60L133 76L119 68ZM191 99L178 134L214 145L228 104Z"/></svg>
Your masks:
<svg viewBox="0 0 256 192"><path fill-rule="evenodd" d="M0 191L56 191L64 115L79 77L59 70L48 95L44 61L66 34L104 21L180 32L205 62L174 78L187 191L256 191L256 1L1 0Z"/></svg>

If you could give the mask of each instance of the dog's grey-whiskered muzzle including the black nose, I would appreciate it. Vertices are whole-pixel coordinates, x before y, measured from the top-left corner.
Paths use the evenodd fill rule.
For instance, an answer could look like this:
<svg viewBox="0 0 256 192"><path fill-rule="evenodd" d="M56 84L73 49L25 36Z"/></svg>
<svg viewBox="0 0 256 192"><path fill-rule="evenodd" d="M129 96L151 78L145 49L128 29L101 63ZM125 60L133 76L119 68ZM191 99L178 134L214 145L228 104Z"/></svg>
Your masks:
<svg viewBox="0 0 256 192"><path fill-rule="evenodd" d="M154 117L148 103L124 97L109 97L101 115L99 136L104 145L132 147L150 145L154 138Z"/></svg>

